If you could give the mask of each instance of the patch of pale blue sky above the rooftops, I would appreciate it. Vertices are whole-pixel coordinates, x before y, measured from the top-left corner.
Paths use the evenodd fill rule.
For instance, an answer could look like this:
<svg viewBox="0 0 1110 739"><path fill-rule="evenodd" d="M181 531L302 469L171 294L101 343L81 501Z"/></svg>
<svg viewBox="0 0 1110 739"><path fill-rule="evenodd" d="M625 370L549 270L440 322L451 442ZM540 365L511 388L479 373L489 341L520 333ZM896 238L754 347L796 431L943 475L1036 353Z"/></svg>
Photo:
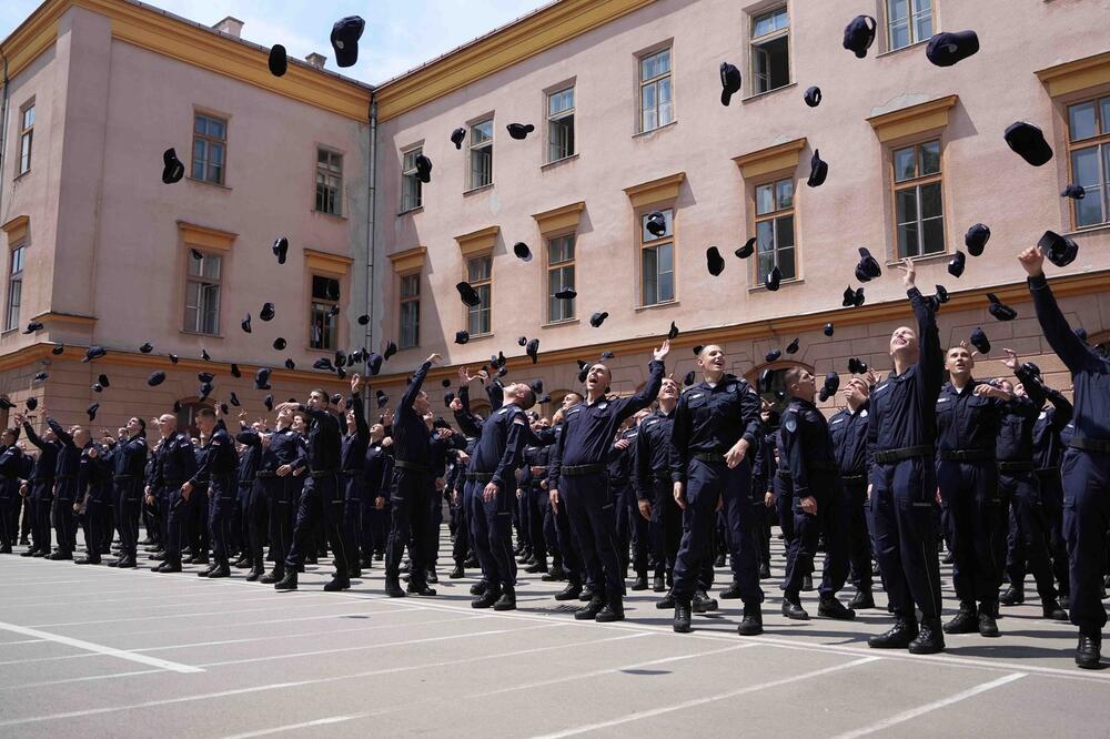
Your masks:
<svg viewBox="0 0 1110 739"><path fill-rule="evenodd" d="M326 69L376 84L396 77L471 39L524 16L548 0L145 0L165 11L212 26L226 16L245 23L243 39L290 57L315 51ZM41 0L0 0L0 38L7 38ZM323 9L323 10L321 10ZM329 37L344 16L362 16L366 31L359 63L335 65Z"/></svg>

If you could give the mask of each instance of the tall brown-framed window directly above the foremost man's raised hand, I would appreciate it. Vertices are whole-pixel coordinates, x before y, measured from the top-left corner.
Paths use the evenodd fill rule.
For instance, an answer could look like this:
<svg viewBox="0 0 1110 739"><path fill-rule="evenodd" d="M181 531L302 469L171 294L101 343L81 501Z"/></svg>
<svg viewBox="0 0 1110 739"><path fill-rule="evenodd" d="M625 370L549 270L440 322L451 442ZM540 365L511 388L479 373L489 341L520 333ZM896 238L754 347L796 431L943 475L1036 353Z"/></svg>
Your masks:
<svg viewBox="0 0 1110 739"><path fill-rule="evenodd" d="M940 142L896 149L894 166L898 257L939 254L945 251Z"/></svg>

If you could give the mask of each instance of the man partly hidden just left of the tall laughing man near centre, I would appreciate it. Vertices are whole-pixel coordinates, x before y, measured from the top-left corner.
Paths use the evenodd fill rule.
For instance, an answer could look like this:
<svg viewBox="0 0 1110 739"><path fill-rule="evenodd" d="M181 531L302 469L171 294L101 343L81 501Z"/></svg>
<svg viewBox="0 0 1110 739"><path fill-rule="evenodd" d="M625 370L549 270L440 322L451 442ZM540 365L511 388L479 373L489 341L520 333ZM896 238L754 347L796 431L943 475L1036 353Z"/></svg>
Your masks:
<svg viewBox="0 0 1110 739"><path fill-rule="evenodd" d="M659 408L644 418L636 435L636 464L633 476L639 513L650 522L652 555L655 576L652 589L664 593L674 581L675 557L683 536L683 512L675 502L670 482L670 432L678 405L678 383L664 377L659 387ZM673 608L674 603L663 606Z"/></svg>

